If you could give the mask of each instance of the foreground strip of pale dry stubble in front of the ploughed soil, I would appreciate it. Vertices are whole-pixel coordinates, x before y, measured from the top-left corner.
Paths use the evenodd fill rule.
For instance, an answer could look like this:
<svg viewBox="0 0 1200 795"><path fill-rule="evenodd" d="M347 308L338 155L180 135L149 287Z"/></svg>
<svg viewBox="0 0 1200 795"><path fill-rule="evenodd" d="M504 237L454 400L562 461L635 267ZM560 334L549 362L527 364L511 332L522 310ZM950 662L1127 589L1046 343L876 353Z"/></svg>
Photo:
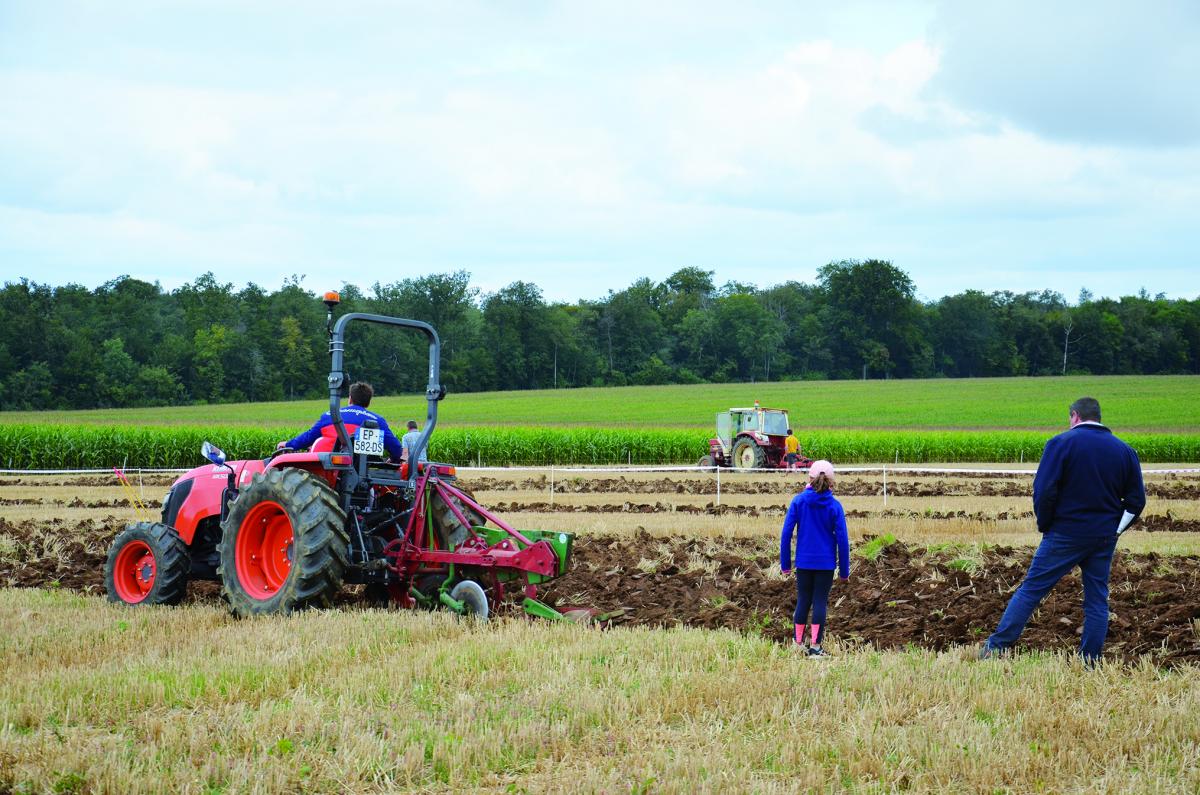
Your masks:
<svg viewBox="0 0 1200 795"><path fill-rule="evenodd" d="M1193 668L833 648L4 590L0 791L1200 787Z"/></svg>

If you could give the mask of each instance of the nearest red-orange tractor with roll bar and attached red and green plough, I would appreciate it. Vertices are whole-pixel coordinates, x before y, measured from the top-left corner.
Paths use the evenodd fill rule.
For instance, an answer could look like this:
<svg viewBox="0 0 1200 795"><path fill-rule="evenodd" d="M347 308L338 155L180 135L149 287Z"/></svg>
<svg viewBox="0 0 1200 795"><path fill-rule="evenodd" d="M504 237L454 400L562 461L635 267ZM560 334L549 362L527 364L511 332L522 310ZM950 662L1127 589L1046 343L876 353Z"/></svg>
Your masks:
<svg viewBox="0 0 1200 795"><path fill-rule="evenodd" d="M539 585L566 572L570 533L514 530L455 485L452 466L386 462L373 420L347 428L340 399L349 382L349 323L414 329L428 339L428 414L413 460L420 461L437 425L445 389L433 327L358 312L334 324L337 303L337 293L325 294L334 449L284 448L265 459L226 461L205 442L202 454L211 464L175 480L162 521L132 524L113 542L104 567L108 598L178 604L188 580L217 580L232 610L250 616L329 605L343 584L361 584L378 603L445 606L482 618L515 592L527 612L563 618L536 594Z"/></svg>

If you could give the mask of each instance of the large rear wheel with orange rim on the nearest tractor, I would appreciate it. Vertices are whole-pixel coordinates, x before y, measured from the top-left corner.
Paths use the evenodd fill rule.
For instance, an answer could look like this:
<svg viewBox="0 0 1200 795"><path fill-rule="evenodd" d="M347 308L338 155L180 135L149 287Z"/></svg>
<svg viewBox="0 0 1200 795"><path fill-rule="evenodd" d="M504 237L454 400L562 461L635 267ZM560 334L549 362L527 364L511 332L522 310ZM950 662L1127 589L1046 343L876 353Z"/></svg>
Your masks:
<svg viewBox="0 0 1200 795"><path fill-rule="evenodd" d="M346 514L304 470L254 476L221 522L222 594L240 616L329 606L349 567Z"/></svg>

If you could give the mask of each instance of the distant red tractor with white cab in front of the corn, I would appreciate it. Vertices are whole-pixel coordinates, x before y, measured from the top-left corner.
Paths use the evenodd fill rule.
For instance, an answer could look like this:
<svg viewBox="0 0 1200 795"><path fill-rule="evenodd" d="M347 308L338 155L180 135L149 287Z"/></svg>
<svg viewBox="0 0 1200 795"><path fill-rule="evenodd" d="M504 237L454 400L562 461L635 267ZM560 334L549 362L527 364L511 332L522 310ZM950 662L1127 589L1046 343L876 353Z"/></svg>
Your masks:
<svg viewBox="0 0 1200 795"><path fill-rule="evenodd" d="M716 416L716 436L708 440L708 455L697 466L736 470L802 470L811 459L797 455L787 461L786 441L791 428L782 408L731 408Z"/></svg>

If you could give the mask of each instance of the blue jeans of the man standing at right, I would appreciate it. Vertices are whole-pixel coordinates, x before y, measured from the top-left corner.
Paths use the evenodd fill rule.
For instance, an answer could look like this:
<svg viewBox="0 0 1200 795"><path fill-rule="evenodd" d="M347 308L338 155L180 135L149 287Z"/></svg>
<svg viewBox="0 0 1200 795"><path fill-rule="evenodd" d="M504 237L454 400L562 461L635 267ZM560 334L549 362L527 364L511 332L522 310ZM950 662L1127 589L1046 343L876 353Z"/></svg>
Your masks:
<svg viewBox="0 0 1200 795"><path fill-rule="evenodd" d="M1073 538L1046 533L1033 554L1025 581L1009 599L1000 626L988 639L988 646L1000 650L1015 644L1050 588L1078 566L1084 580L1084 638L1079 653L1088 662L1099 659L1109 634L1109 572L1116 546L1115 534Z"/></svg>

